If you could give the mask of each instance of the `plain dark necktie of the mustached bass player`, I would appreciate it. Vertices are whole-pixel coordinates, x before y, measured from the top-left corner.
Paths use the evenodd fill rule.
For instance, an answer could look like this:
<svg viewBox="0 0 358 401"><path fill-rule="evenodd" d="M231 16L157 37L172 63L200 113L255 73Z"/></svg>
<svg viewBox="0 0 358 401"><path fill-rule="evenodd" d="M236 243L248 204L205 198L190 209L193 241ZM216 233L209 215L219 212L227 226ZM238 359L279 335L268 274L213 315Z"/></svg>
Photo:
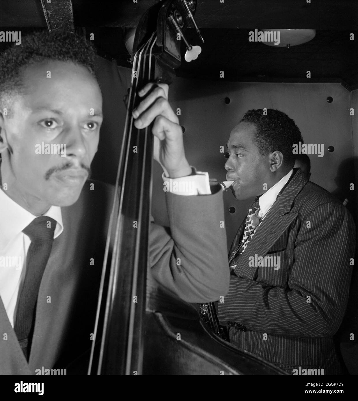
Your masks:
<svg viewBox="0 0 358 401"><path fill-rule="evenodd" d="M35 325L36 302L43 272L49 259L56 221L51 217L36 217L22 230L31 239L26 256L26 272L18 295L14 330L26 359L30 355Z"/></svg>

